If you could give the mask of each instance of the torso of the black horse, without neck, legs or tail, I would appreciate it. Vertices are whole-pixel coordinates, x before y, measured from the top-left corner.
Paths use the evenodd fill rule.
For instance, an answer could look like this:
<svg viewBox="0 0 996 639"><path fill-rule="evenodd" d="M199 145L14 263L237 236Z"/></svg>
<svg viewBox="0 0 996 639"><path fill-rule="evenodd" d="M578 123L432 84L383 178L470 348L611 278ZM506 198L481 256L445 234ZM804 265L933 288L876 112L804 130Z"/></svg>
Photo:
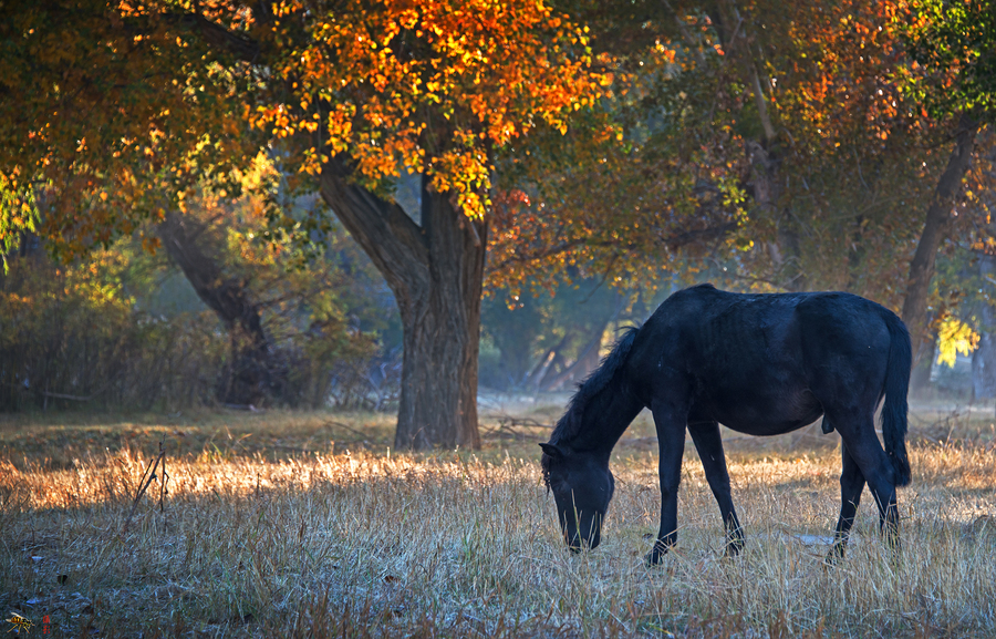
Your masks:
<svg viewBox="0 0 996 639"><path fill-rule="evenodd" d="M647 405L682 401L734 430L784 433L812 423L830 402L878 401L890 342L883 312L891 311L850 293L693 287L644 324L631 374Z"/></svg>

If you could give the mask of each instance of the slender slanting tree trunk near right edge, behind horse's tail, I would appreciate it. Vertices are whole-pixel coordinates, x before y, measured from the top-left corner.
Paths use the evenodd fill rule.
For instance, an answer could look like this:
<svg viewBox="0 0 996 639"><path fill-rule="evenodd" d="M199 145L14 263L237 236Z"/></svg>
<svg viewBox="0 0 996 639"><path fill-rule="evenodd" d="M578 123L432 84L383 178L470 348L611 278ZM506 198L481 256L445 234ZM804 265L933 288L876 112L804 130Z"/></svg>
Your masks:
<svg viewBox="0 0 996 639"><path fill-rule="evenodd" d="M947 167L937 181L937 188L927 207L926 221L920 235L920 244L910 262L910 276L906 280L906 296L903 300L903 321L910 329L913 341L913 361L916 362L926 352L928 336L926 327L927 293L931 278L934 277L934 260L941 241L951 227L951 210L955 198L962 190L962 178L972 163L975 151L975 135L978 122L962 114L955 135L955 147L947 161Z"/></svg>

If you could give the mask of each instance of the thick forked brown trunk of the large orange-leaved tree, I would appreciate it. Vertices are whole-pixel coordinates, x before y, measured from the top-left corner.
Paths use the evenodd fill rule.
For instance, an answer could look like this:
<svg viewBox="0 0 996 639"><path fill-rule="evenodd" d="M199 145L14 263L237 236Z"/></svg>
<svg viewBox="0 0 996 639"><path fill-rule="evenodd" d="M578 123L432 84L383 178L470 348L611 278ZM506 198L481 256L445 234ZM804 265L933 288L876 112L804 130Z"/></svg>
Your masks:
<svg viewBox="0 0 996 639"><path fill-rule="evenodd" d="M398 449L480 447L477 355L487 224L423 177L418 223L349 181L333 158L321 194L394 292L404 330Z"/></svg>

